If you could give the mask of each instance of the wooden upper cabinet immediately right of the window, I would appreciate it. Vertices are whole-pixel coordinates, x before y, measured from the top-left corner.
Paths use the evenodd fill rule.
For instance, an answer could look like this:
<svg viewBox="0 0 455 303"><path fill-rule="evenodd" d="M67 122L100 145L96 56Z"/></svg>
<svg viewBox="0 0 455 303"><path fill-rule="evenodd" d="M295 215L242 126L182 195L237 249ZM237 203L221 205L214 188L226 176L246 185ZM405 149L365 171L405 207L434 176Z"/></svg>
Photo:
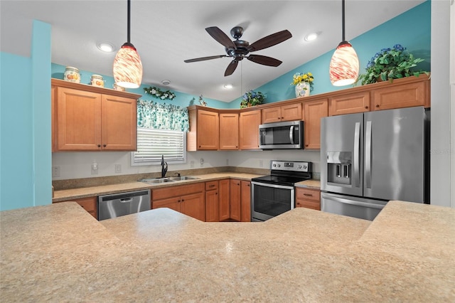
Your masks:
<svg viewBox="0 0 455 303"><path fill-rule="evenodd" d="M217 150L220 145L219 116L216 110L188 111L190 131L186 135L186 150Z"/></svg>

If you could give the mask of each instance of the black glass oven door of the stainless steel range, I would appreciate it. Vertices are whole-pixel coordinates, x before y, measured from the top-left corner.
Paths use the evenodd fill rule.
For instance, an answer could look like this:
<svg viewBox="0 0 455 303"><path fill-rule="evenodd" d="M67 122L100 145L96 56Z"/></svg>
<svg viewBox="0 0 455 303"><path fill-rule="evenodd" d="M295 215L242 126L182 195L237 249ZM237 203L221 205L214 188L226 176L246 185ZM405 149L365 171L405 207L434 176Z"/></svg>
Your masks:
<svg viewBox="0 0 455 303"><path fill-rule="evenodd" d="M265 221L294 208L294 186L251 182L252 221Z"/></svg>

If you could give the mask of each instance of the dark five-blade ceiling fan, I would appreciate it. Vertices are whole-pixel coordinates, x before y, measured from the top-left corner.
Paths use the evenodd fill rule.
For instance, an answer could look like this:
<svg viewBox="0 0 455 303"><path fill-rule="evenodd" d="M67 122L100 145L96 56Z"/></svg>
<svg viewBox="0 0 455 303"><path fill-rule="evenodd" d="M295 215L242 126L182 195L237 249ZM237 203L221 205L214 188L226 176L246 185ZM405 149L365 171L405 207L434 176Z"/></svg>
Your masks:
<svg viewBox="0 0 455 303"><path fill-rule="evenodd" d="M239 61L243 60L243 58L247 58L252 62L262 65L278 66L282 64L282 61L275 58L267 57L265 55L249 55L249 53L256 50L269 48L270 46L282 43L283 41L286 41L292 37L291 33L286 29L284 31L272 33L272 35L259 39L255 43L250 44L248 41L239 40L243 34L243 28L241 26L235 26L230 30L230 34L232 38L235 38L235 41L231 41L228 35L223 33L223 31L221 31L217 26L205 28L205 31L207 31L208 34L212 36L212 38L214 38L225 47L227 55L211 55L209 57L184 60L184 62L191 63L223 57L232 57L233 60L231 63L229 63L228 68L226 68L225 76L232 75L232 73L234 73L235 69L237 68Z"/></svg>

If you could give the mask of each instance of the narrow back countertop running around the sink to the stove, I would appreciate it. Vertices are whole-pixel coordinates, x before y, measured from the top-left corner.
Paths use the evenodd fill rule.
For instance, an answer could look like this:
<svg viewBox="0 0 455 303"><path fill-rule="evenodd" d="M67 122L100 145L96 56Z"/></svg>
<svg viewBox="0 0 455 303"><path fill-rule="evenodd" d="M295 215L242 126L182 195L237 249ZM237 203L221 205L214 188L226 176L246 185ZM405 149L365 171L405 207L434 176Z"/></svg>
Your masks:
<svg viewBox="0 0 455 303"><path fill-rule="evenodd" d="M203 182L203 181L219 180L219 179L226 179L226 178L250 181L252 178L255 178L257 176L262 176L262 175L243 174L243 173L216 173L216 174L197 175L196 177L198 177L199 179L196 179L196 180L176 181L176 182L168 182L168 183L156 184L156 185L150 185L150 184L146 184L143 182L129 182L129 183L122 183L122 184L111 184L111 185L103 185L103 186L64 189L61 191L54 191L54 196L53 196L52 201L53 202L69 201L71 199L108 195L111 193L123 193L126 191L139 191L141 189L192 184L192 183L198 183L198 182Z"/></svg>

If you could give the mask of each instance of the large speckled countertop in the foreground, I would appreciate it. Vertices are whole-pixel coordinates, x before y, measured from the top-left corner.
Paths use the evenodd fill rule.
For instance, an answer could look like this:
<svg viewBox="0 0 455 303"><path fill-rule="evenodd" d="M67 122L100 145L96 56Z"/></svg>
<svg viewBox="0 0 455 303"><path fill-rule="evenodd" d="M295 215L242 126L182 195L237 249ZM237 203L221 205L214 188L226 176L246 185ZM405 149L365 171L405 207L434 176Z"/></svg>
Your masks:
<svg viewBox="0 0 455 303"><path fill-rule="evenodd" d="M295 208L204 223L167 208L98 222L76 203L0 212L1 302L454 302L455 209L370 221Z"/></svg>

